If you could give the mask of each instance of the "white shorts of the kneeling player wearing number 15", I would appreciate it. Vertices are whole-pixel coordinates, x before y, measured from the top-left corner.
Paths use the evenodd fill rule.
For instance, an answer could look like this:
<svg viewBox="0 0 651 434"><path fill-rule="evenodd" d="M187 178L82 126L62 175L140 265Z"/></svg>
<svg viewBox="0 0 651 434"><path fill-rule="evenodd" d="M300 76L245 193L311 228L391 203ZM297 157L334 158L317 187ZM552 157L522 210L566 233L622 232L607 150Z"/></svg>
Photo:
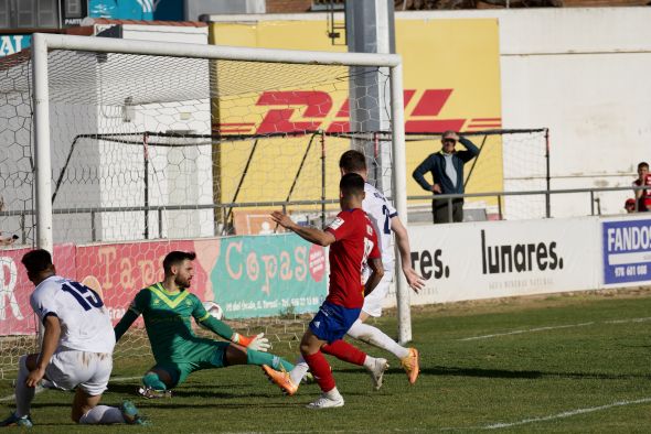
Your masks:
<svg viewBox="0 0 651 434"><path fill-rule="evenodd" d="M45 368L45 378L56 389L73 390L78 387L96 397L106 390L111 370L110 354L58 348Z"/></svg>

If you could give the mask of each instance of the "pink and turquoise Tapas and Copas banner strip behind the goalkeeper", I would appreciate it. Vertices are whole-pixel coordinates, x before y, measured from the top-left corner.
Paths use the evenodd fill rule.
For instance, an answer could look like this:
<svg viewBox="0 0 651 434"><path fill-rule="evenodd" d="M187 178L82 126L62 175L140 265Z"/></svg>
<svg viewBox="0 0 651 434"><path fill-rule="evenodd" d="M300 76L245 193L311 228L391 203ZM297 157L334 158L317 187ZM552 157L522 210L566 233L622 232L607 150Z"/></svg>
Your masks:
<svg viewBox="0 0 651 434"><path fill-rule="evenodd" d="M0 336L32 335L34 286L21 258L30 249L0 251ZM117 323L138 291L163 280L172 250L194 251L190 291L214 300L226 318L316 312L327 294L326 250L294 235L54 247L56 272L92 289ZM141 318L136 323L142 325Z"/></svg>

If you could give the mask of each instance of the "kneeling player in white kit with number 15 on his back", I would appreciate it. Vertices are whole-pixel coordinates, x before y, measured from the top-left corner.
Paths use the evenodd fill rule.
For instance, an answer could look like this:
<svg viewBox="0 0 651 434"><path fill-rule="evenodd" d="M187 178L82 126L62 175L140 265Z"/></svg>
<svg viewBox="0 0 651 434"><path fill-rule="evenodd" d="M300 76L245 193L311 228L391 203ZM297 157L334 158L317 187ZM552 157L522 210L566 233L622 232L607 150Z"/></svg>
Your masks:
<svg viewBox="0 0 651 434"><path fill-rule="evenodd" d="M32 426L30 409L41 380L74 390L73 421L82 424L143 424L136 406L98 405L113 369L115 333L99 295L78 282L56 275L46 250L22 258L35 290L30 304L43 324L39 354L22 356L15 382L17 410L0 426Z"/></svg>

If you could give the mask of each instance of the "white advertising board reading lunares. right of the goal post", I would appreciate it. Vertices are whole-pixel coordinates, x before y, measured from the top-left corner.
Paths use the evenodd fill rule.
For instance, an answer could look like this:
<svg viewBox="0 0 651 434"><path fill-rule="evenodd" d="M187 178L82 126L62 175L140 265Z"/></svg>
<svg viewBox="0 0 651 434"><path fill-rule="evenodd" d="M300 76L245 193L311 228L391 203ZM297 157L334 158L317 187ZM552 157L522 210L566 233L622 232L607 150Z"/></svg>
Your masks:
<svg viewBox="0 0 651 434"><path fill-rule="evenodd" d="M412 303L430 304L600 287L597 218L409 226Z"/></svg>

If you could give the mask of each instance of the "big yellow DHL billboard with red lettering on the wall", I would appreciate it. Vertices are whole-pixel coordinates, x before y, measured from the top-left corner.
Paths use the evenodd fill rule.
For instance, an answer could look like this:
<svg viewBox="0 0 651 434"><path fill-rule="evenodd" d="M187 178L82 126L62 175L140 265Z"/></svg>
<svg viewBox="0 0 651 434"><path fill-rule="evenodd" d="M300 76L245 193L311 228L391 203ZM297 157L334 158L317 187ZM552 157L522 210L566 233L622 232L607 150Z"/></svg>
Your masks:
<svg viewBox="0 0 651 434"><path fill-rule="evenodd" d="M326 22L259 21L255 23L212 23L212 44L345 52L327 37ZM500 57L497 19L396 20L396 50L403 57L405 128L407 133L457 130L471 132L501 127ZM260 74L256 68L264 68ZM217 65L213 83L213 129L222 135L267 134L298 130L348 131L350 128L346 68L276 64L250 64L238 70L243 93L237 98L224 79L228 65ZM231 73L232 74L232 73ZM327 77L324 75L330 75ZM262 77L262 78L260 78ZM332 78L335 79L332 79ZM244 108L237 99L247 99ZM253 155L252 144L221 144L220 161L224 199L232 198L239 175L248 164L247 182L264 187L242 188L244 202L273 200L287 192L292 174L310 138L260 141ZM472 139L482 149L472 167L467 192L503 189L501 139ZM461 147L459 144L459 147ZM324 149L313 145L302 163L292 199L320 197L320 181L327 182L327 197L338 195L338 159L350 148L350 140L328 138ZM440 141L408 141L407 173ZM320 165L326 153L324 173ZM468 166L467 166L468 167ZM467 175L470 172L467 169ZM407 182L408 195L426 194L415 182ZM247 193L248 192L248 193Z"/></svg>

